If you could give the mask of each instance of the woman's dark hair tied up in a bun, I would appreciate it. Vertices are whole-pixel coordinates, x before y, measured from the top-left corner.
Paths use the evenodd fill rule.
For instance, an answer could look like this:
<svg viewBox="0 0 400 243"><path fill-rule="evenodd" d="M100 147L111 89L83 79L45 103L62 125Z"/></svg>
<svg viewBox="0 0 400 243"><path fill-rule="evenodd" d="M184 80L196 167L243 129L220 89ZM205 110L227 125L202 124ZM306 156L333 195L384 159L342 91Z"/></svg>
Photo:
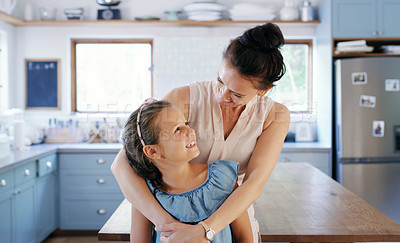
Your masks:
<svg viewBox="0 0 400 243"><path fill-rule="evenodd" d="M286 72L279 48L285 44L279 27L272 23L256 26L231 41L224 51L224 60L248 78L258 78L258 90L274 86Z"/></svg>

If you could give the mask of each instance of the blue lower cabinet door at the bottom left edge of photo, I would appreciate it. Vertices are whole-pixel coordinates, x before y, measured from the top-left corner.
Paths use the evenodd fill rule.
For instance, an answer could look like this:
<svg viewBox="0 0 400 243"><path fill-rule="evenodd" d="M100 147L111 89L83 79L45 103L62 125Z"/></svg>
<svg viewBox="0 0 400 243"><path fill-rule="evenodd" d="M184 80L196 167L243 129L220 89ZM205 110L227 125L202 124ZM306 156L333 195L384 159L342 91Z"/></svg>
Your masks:
<svg viewBox="0 0 400 243"><path fill-rule="evenodd" d="M11 242L12 237L12 191L0 194L0 236L1 242Z"/></svg>

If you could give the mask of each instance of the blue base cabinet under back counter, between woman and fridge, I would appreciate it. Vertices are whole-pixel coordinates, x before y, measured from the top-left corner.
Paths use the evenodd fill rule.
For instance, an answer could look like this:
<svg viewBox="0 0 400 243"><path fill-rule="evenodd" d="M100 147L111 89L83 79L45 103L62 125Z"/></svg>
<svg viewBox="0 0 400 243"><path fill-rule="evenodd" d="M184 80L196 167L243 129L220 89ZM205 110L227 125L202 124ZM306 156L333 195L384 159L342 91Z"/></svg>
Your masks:
<svg viewBox="0 0 400 243"><path fill-rule="evenodd" d="M329 150L282 152L278 163L308 162L332 177L331 153Z"/></svg>

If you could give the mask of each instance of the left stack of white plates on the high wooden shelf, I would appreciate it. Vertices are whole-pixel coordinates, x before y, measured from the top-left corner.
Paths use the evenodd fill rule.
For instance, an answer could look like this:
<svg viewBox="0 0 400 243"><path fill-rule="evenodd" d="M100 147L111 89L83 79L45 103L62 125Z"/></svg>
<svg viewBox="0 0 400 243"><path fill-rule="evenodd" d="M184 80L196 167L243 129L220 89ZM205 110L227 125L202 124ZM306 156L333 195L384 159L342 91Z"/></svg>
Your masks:
<svg viewBox="0 0 400 243"><path fill-rule="evenodd" d="M195 21L215 21L223 18L226 7L215 1L193 1L183 6L187 19Z"/></svg>

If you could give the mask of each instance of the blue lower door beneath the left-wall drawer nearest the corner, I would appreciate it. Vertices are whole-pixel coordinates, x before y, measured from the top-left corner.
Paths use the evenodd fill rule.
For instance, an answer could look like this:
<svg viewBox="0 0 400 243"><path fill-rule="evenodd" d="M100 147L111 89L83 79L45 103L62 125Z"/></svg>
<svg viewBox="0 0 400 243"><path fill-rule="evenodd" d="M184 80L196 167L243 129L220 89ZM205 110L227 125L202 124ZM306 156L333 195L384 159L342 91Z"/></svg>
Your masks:
<svg viewBox="0 0 400 243"><path fill-rule="evenodd" d="M47 174L36 183L36 236L44 240L56 228L56 175Z"/></svg>

